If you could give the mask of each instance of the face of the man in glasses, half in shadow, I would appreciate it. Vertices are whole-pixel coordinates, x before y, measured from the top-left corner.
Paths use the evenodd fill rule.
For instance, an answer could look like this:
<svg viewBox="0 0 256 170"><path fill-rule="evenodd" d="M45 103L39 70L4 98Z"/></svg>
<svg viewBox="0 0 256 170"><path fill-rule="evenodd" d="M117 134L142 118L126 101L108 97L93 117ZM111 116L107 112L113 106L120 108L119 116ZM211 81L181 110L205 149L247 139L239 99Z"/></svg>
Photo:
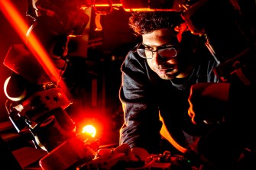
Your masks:
<svg viewBox="0 0 256 170"><path fill-rule="evenodd" d="M180 30L174 34L173 29L154 30L150 34L142 35L142 44L147 50L160 50L171 47L175 48L176 55L173 57L160 56L159 53L154 52L153 58L147 59L150 68L160 76L161 79L184 78L191 70L190 64L187 63L187 57L184 56L183 49L178 47L182 40L184 30ZM151 54L151 53L149 53ZM147 56L148 57L148 56Z"/></svg>

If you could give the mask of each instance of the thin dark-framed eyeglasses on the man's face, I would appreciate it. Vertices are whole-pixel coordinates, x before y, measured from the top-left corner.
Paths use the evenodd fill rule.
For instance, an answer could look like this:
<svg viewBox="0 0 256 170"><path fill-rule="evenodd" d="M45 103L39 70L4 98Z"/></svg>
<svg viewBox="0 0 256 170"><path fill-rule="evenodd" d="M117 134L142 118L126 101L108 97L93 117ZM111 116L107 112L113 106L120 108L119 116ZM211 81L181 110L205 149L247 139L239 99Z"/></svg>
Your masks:
<svg viewBox="0 0 256 170"><path fill-rule="evenodd" d="M141 44L138 45L138 47L141 47ZM144 59L153 59L154 53L157 53L163 59L171 59L177 55L177 51L174 47L163 47L159 50L141 49L138 47L134 52L137 52L138 55Z"/></svg>

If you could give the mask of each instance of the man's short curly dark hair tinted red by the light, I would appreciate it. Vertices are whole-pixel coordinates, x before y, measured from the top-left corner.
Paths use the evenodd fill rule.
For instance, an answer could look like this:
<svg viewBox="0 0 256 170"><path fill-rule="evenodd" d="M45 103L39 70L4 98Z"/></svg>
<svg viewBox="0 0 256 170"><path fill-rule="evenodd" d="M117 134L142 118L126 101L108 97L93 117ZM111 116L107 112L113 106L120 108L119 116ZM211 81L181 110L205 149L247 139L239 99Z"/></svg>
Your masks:
<svg viewBox="0 0 256 170"><path fill-rule="evenodd" d="M175 27L183 22L177 11L134 11L128 24L136 35L141 35L161 28Z"/></svg>

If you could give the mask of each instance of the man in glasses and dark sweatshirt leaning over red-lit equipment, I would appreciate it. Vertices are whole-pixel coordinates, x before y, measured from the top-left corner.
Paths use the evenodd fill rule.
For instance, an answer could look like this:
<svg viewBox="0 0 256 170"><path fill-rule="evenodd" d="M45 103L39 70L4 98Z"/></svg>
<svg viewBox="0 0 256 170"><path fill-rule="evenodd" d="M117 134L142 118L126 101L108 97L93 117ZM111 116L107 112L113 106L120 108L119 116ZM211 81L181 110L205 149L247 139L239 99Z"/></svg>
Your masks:
<svg viewBox="0 0 256 170"><path fill-rule="evenodd" d="M121 67L125 123L120 145L128 144L142 160L165 150L186 152L205 130L188 116L190 87L218 82L215 60L179 12L134 12L129 25L142 42Z"/></svg>

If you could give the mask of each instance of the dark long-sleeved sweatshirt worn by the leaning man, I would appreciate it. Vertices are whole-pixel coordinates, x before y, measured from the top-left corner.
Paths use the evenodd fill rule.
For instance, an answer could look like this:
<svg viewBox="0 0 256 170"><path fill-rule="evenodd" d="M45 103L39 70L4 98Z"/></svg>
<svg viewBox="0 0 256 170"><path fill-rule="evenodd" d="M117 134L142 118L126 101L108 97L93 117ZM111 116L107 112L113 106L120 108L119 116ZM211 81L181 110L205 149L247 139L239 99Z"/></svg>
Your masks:
<svg viewBox="0 0 256 170"><path fill-rule="evenodd" d="M121 67L119 98L125 123L120 130L120 144L142 147L150 153L161 152L159 112L177 143L185 148L192 143L189 134L196 136L197 133L187 114L190 86L198 82L217 82L213 72L215 60L206 56L198 60L189 78L164 80L150 69L146 59L132 50L128 53Z"/></svg>

